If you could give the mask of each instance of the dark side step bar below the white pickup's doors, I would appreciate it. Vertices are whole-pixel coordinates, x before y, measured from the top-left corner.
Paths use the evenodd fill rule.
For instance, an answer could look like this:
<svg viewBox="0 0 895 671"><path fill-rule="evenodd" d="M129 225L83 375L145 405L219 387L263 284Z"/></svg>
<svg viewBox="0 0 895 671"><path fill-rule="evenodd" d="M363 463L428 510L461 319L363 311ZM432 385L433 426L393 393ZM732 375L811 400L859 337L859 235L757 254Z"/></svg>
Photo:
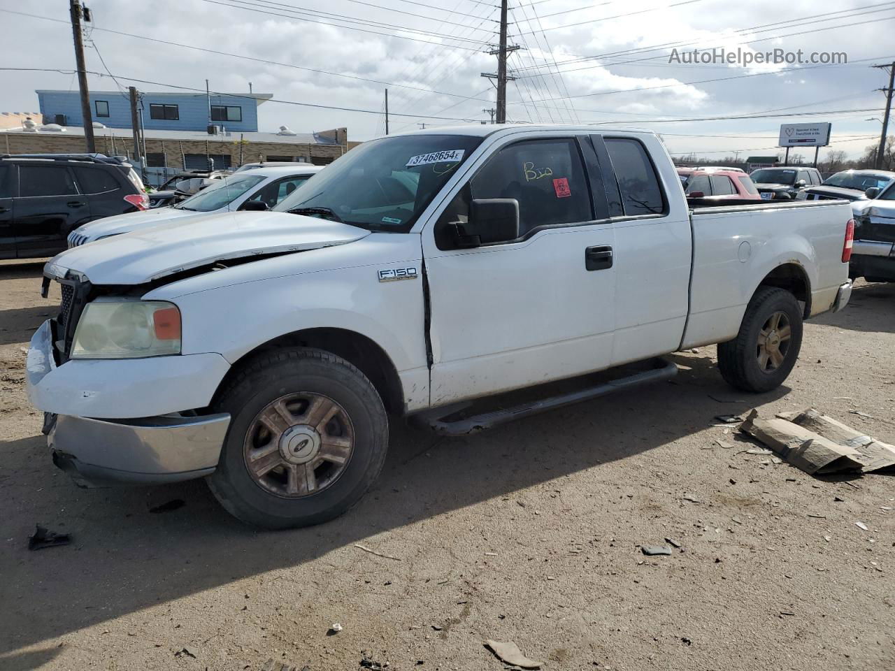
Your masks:
<svg viewBox="0 0 895 671"><path fill-rule="evenodd" d="M456 414L458 407L448 406L446 408L435 409L439 412L438 416L430 414L430 412L420 413L414 418L416 423L428 426L444 436L465 436L471 433L477 433L485 429L492 429L500 424L506 424L509 421L519 420L523 417L530 417L563 408L573 403L581 403L582 401L590 401L598 396L605 396L615 392L624 391L635 386L645 385L650 382L658 382L663 379L673 378L678 374L678 366L671 361L656 359L653 361L655 368L644 370L626 378L618 378L609 382L603 382L597 386L591 386L586 389L580 389L565 394L542 398L537 401L520 403L516 406L495 410L492 412L482 412L482 414L463 417L458 420L446 420L450 414ZM468 403L466 404L468 405ZM447 411L447 414L445 413Z"/></svg>

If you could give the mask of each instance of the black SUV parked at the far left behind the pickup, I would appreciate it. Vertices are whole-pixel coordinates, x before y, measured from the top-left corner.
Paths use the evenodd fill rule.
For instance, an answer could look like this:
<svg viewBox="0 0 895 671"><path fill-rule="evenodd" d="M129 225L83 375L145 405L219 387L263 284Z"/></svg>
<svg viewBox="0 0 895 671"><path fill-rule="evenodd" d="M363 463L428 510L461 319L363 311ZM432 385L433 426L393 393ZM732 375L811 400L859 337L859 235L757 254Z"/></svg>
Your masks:
<svg viewBox="0 0 895 671"><path fill-rule="evenodd" d="M140 177L120 159L0 154L0 259L53 256L81 224L148 207Z"/></svg>

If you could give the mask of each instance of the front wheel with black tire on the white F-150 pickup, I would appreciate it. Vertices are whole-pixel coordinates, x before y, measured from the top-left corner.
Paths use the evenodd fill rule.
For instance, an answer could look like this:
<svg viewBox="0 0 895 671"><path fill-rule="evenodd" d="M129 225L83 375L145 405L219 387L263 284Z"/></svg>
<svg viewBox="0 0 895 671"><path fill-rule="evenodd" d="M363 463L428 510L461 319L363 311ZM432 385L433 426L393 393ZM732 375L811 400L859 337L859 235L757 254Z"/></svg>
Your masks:
<svg viewBox="0 0 895 671"><path fill-rule="evenodd" d="M329 352L264 354L234 375L212 407L231 420L206 480L227 512L253 526L327 522L363 497L385 462L382 399L360 370Z"/></svg>

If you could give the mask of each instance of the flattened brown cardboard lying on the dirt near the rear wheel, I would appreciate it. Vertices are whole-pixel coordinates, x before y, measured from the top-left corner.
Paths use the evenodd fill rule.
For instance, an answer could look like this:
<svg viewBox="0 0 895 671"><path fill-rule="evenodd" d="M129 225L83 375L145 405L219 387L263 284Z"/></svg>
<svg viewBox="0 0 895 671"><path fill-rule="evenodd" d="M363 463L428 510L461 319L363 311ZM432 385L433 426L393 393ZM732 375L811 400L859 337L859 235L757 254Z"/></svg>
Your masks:
<svg viewBox="0 0 895 671"><path fill-rule="evenodd" d="M768 420L753 410L740 429L810 474L865 473L895 465L895 447L812 409Z"/></svg>

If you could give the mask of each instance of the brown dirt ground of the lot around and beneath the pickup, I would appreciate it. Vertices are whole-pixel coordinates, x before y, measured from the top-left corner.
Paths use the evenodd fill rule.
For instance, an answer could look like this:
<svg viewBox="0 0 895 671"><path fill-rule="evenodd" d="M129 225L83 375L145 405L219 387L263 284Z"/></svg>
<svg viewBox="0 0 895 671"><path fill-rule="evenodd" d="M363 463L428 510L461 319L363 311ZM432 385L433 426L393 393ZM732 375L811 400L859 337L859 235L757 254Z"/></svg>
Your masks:
<svg viewBox="0 0 895 671"><path fill-rule="evenodd" d="M4 671L502 668L485 639L545 669L895 667L892 476L815 479L713 426L813 405L895 442L895 285L809 323L771 394L730 389L708 347L675 355L671 382L474 437L394 422L360 505L273 533L200 481L85 490L56 471L22 380L58 302L40 268L0 265ZM30 552L36 522L72 544ZM640 552L666 537L682 548Z"/></svg>

